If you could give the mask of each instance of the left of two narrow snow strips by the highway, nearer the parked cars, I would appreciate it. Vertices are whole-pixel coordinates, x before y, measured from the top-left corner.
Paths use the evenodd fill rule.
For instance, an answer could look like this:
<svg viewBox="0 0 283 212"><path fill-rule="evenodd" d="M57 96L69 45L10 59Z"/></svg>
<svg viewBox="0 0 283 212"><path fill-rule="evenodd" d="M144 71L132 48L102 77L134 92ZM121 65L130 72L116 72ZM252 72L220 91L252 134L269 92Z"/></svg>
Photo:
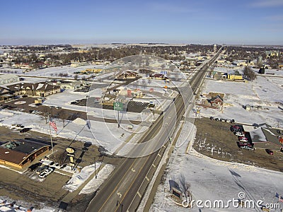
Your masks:
<svg viewBox="0 0 283 212"><path fill-rule="evenodd" d="M101 163L96 163L96 169L100 167ZM86 167L83 167L81 172L75 173L73 177L67 182L67 184L64 185L64 189L68 190L69 192L74 192L76 189L78 189L83 182L85 182L88 177L90 177L95 170L95 164L88 165Z"/></svg>

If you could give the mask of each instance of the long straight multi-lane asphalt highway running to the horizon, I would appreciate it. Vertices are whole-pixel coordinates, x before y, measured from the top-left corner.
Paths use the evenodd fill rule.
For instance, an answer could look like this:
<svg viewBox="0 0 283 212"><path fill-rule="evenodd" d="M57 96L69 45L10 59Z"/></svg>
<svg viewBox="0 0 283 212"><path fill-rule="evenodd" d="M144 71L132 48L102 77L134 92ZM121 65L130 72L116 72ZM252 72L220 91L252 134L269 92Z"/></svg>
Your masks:
<svg viewBox="0 0 283 212"><path fill-rule="evenodd" d="M209 61L208 65L200 69L190 80L193 93L197 91L197 88L202 82L202 78L205 77L207 68L214 62L214 59L216 59L216 57ZM191 93L185 91L186 90L184 90L183 96L178 95L178 97L175 98L174 104L171 104L168 110L161 114L139 143L144 143L152 138L158 139L154 139L154 142L143 146L142 149L134 148L132 155L134 155L135 151L149 151L150 149L156 148L156 146L160 146L161 143L164 143L164 146L168 145L169 134L173 133L175 123L178 123L183 117L185 106L187 107L192 100ZM168 129L171 132L169 134ZM165 147L161 148L161 151L155 151L141 158L124 158L92 199L86 211L134 211L139 204L134 202L134 197L143 195L139 194L139 187L144 179L147 178L147 173L151 167L158 165L156 158L161 158L164 149Z"/></svg>

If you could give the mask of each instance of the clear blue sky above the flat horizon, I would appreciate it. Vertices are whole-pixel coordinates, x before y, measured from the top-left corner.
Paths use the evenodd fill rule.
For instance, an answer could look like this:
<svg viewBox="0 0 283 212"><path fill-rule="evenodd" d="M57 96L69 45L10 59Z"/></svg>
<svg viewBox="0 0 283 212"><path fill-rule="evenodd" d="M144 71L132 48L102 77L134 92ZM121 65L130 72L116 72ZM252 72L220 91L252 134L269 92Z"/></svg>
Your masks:
<svg viewBox="0 0 283 212"><path fill-rule="evenodd" d="M283 0L0 0L0 45L283 45Z"/></svg>

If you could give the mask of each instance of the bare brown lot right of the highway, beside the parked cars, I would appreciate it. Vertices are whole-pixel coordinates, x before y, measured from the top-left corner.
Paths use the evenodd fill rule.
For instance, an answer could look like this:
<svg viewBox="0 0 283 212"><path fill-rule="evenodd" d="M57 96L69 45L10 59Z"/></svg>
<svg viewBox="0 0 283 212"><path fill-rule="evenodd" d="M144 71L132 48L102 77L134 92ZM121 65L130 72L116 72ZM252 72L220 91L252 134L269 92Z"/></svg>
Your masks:
<svg viewBox="0 0 283 212"><path fill-rule="evenodd" d="M197 135L193 148L197 152L217 160L283 172L283 153L279 152L279 148L273 151L274 155L268 155L264 148L256 148L255 151L242 150L237 146L237 136L230 131L231 124L202 118L195 119L195 125Z"/></svg>

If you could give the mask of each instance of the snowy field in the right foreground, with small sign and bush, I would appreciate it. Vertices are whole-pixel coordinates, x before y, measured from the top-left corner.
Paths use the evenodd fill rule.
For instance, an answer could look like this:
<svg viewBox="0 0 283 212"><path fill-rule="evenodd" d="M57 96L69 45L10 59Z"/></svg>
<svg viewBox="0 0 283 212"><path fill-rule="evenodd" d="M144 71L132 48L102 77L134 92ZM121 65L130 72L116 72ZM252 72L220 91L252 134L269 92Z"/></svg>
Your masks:
<svg viewBox="0 0 283 212"><path fill-rule="evenodd" d="M184 130L181 132L178 142L183 144L182 134L184 134ZM208 158L191 148L195 130L192 131L192 134L192 139L189 137L183 145L175 147L168 161L164 184L158 186L150 211L261 211L260 208L233 208L232 204L229 208L206 208L204 204L202 204L204 208L198 208L195 204L190 209L184 208L180 204L177 205L171 199L168 182L175 180L180 184L179 180L182 175L185 182L191 184L190 191L192 199L195 201L221 200L226 204L229 200L238 200L238 194L243 192L246 195L243 201L251 200L256 203L261 200L263 205L277 203L278 199L273 198L275 193L283 194L282 172ZM188 142L190 142L190 151L189 154L186 154L185 149ZM282 203L281 208L283 208Z"/></svg>

